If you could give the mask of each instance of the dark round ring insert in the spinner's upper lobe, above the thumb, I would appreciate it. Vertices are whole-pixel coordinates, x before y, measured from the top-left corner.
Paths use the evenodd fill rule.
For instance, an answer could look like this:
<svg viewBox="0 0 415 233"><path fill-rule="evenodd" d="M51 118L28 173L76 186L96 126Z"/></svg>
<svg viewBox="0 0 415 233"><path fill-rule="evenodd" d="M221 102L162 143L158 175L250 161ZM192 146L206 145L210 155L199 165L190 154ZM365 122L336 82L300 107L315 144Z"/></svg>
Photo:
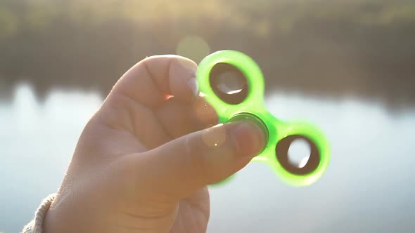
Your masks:
<svg viewBox="0 0 415 233"><path fill-rule="evenodd" d="M210 70L212 91L223 102L238 105L248 95L248 81L240 69L228 63L217 63Z"/></svg>

